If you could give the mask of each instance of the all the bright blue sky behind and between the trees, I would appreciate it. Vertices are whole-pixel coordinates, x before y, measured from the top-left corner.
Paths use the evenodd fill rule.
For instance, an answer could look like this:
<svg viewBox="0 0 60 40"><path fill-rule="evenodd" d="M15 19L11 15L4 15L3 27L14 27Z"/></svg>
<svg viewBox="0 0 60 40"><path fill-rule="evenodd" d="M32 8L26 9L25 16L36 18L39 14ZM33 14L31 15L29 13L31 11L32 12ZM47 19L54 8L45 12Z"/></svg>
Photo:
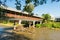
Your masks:
<svg viewBox="0 0 60 40"><path fill-rule="evenodd" d="M7 1L8 7L15 8L14 3L15 3L14 0ZM21 4L22 4L22 9L23 9L23 5L25 5L24 0L21 0ZM48 0L47 4L43 4L43 5L39 5L39 6L35 7L33 10L33 13L35 15L38 14L38 16L49 13L53 17L60 17L60 2L51 3L51 1Z"/></svg>

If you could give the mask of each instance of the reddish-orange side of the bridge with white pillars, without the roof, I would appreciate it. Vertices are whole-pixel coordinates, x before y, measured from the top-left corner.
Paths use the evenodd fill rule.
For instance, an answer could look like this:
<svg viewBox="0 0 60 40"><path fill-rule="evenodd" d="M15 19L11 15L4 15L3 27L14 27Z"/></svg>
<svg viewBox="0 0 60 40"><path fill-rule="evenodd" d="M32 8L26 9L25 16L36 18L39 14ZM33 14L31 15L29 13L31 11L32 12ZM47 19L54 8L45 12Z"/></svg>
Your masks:
<svg viewBox="0 0 60 40"><path fill-rule="evenodd" d="M33 24L33 26L35 26L36 22L40 22L40 24L42 23L42 19L41 18L36 18L36 17L29 17L29 16L20 16L20 15L14 15L14 14L6 14L7 17L9 17L9 20L14 20L14 21L18 21L19 24L21 24L22 21L28 21L29 22L29 26L31 26L31 22Z"/></svg>

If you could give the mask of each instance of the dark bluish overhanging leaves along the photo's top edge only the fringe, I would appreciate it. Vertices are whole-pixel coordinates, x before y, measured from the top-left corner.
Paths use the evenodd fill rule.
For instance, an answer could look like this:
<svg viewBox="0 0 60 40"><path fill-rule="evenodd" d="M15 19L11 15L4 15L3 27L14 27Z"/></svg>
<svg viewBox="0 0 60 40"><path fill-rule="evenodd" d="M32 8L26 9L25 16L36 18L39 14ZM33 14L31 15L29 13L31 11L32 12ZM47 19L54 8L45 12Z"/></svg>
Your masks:
<svg viewBox="0 0 60 40"><path fill-rule="evenodd" d="M3 0L4 2L3 3L5 3L7 0ZM16 3L17 4L19 4L20 5L20 1L21 0L15 0L16 1ZM59 2L60 0L51 0L51 2ZM2 2L1 0L0 0L0 2ZM26 4L28 4L28 3L32 3L33 2L33 4L35 5L35 7L36 6L38 6L38 5L43 5L44 3L46 4L47 3L47 0L25 0L25 3Z"/></svg>

